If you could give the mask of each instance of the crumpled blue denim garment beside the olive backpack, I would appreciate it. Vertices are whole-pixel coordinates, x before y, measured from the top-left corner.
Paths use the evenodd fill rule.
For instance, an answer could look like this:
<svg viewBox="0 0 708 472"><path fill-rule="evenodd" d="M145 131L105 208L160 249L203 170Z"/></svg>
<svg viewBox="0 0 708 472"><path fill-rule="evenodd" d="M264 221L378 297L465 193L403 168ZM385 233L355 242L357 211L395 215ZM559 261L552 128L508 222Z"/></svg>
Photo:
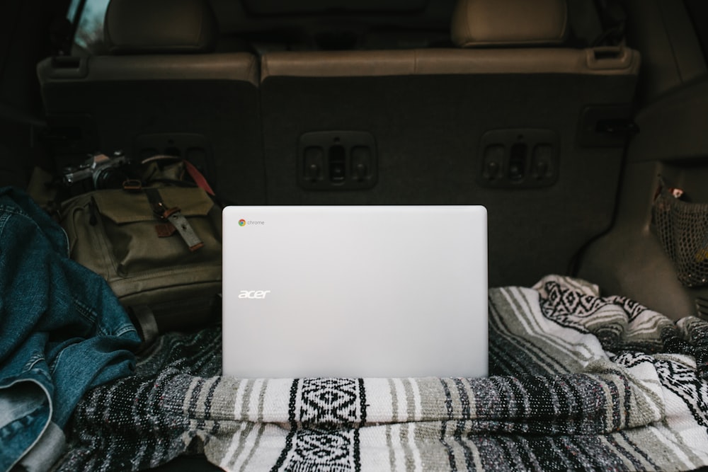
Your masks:
<svg viewBox="0 0 708 472"><path fill-rule="evenodd" d="M0 471L43 434L47 447L45 431L63 429L89 388L135 368L135 327L105 280L68 254L55 221L0 188Z"/></svg>

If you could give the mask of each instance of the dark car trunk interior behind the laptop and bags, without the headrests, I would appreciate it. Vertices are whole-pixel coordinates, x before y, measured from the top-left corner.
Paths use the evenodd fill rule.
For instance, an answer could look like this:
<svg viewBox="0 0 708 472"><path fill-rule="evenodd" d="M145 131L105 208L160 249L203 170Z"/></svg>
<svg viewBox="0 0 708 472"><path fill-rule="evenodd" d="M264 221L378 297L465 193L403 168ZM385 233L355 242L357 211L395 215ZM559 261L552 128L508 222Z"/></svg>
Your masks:
<svg viewBox="0 0 708 472"><path fill-rule="evenodd" d="M72 47L70 3L0 7L0 187L120 150L234 205L484 205L489 287L708 320L708 2L568 0L561 45L462 47L454 0L212 0L204 54Z"/></svg>

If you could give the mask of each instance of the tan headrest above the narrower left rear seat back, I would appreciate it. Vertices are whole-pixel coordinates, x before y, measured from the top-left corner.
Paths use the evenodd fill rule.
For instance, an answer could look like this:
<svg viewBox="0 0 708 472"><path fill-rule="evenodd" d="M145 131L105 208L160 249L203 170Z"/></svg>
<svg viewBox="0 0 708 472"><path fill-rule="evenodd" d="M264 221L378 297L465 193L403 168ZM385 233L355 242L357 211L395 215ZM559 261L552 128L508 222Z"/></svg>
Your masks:
<svg viewBox="0 0 708 472"><path fill-rule="evenodd" d="M103 38L108 52L210 52L218 36L207 0L111 0Z"/></svg>

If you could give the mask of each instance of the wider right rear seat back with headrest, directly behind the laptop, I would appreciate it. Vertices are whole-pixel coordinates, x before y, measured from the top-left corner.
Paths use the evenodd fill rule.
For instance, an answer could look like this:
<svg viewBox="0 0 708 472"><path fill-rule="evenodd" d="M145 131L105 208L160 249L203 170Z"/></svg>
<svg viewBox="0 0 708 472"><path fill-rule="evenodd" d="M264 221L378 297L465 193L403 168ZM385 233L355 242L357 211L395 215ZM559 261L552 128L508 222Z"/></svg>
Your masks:
<svg viewBox="0 0 708 472"><path fill-rule="evenodd" d="M612 221L639 70L568 28L564 1L461 0L457 48L265 54L268 202L482 204L491 285L567 272Z"/></svg>

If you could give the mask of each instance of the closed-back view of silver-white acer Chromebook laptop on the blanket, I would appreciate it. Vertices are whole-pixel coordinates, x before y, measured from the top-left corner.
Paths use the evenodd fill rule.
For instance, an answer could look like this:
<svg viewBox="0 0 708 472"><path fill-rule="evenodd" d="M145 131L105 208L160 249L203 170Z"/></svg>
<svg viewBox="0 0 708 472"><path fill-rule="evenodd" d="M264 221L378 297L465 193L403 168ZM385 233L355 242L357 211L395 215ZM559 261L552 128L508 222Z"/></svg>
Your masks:
<svg viewBox="0 0 708 472"><path fill-rule="evenodd" d="M481 206L227 207L224 375L487 374Z"/></svg>

